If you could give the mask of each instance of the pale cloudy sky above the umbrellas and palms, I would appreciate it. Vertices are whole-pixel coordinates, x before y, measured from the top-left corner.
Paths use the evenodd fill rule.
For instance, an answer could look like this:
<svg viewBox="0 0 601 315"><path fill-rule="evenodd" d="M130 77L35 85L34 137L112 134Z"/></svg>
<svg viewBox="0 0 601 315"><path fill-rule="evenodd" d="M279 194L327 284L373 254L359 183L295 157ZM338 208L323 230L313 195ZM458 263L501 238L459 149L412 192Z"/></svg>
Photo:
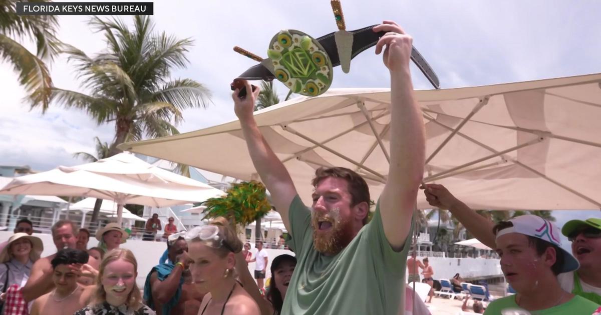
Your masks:
<svg viewBox="0 0 601 315"><path fill-rule="evenodd" d="M384 19L398 22L413 36L443 88L489 85L601 72L599 1L346 1L348 29ZM129 17L124 17L129 20ZM58 37L90 55L105 46L84 16L59 17ZM191 37L195 46L188 67L173 77L189 77L213 92L208 109L187 110L180 131L192 131L234 119L229 83L254 62L232 51L241 46L265 56L280 29L299 29L314 37L336 30L329 1L154 1L156 29ZM30 47L31 44L28 44ZM79 89L66 58L51 65L54 84ZM429 83L413 68L416 88ZM114 126L96 125L85 113L52 106L46 115L29 111L8 64L0 63L0 164L28 164L36 170L82 161L73 152L94 152L93 137L110 142ZM351 71L336 68L334 88L389 86L380 56L368 49L353 59ZM276 84L284 97L284 86ZM555 212L558 223L601 212Z"/></svg>

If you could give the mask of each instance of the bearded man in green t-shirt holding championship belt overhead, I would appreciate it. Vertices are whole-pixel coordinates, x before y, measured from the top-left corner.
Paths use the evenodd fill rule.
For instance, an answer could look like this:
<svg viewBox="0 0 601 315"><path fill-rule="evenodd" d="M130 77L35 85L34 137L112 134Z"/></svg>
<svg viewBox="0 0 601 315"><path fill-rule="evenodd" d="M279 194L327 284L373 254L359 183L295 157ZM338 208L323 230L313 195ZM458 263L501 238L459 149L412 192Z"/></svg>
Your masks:
<svg viewBox="0 0 601 315"><path fill-rule="evenodd" d="M305 206L254 120L259 89L243 98L239 89L233 94L252 162L290 232L297 257L282 314L395 315L403 305L408 235L424 172L424 124L409 71L412 38L391 21L373 30L386 32L376 53L384 52L391 76L386 137L391 163L370 223L367 183L344 167L317 170L313 204ZM248 82L243 84L252 91Z"/></svg>

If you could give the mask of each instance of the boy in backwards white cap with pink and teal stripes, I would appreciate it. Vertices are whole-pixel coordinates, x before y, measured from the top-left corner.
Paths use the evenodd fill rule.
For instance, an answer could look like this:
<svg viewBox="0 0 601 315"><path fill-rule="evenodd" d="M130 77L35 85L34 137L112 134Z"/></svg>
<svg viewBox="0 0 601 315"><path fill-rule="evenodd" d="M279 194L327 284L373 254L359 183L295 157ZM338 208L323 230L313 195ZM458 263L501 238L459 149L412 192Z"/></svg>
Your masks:
<svg viewBox="0 0 601 315"><path fill-rule="evenodd" d="M493 228L501 269L516 295L497 299L484 314L593 314L599 304L561 289L557 275L578 269L561 248L560 230L535 215L520 215ZM528 314L528 313L526 313Z"/></svg>

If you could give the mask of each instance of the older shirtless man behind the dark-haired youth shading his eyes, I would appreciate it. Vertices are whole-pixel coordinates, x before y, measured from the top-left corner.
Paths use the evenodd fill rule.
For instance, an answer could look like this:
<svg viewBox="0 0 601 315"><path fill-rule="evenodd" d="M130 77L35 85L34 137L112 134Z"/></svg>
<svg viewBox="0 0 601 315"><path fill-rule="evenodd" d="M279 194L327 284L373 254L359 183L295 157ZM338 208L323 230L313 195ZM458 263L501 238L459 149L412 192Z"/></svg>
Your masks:
<svg viewBox="0 0 601 315"><path fill-rule="evenodd" d="M76 248L76 242L78 240L76 235L78 233L75 229L75 224L68 220L58 221L52 226L52 239L56 246L56 251L62 250L63 248ZM31 275L22 290L25 301L33 301L54 289L55 284L52 281L54 272L50 262L55 257L56 254L40 258L31 267ZM88 265L93 268L98 269L98 264L99 262L93 257L90 257L88 260ZM74 264L71 268L73 269L73 272L81 275L81 266L82 265ZM78 281L84 285L90 284L87 277L78 277Z"/></svg>

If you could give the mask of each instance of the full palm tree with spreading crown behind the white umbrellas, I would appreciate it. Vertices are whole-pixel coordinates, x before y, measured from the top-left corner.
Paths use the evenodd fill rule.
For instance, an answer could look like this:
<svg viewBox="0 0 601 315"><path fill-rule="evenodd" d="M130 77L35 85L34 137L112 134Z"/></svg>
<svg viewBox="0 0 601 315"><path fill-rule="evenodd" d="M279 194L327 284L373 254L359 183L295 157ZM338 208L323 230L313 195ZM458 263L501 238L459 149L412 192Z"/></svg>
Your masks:
<svg viewBox="0 0 601 315"><path fill-rule="evenodd" d="M52 96L63 106L85 110L98 124L115 122L109 156L126 141L178 134L175 125L183 120L182 110L210 103L211 93L200 82L170 77L172 70L188 65L190 38L154 32L148 16L133 17L132 30L119 19L99 17L90 26L104 33L106 51L90 57L71 45L61 46L88 93L53 88ZM99 210L100 205L94 208L92 221Z"/></svg>

